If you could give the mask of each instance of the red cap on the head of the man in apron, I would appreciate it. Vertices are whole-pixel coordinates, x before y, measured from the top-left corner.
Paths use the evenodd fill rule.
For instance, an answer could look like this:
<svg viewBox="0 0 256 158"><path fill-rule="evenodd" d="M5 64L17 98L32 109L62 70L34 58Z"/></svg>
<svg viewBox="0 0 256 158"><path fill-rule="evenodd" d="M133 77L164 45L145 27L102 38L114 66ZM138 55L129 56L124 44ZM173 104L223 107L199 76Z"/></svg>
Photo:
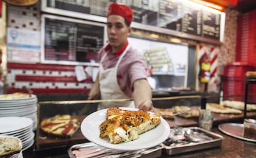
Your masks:
<svg viewBox="0 0 256 158"><path fill-rule="evenodd" d="M108 16L109 15L119 15L126 19L129 24L132 23L132 9L124 4L117 4L116 2L110 4L108 7Z"/></svg>

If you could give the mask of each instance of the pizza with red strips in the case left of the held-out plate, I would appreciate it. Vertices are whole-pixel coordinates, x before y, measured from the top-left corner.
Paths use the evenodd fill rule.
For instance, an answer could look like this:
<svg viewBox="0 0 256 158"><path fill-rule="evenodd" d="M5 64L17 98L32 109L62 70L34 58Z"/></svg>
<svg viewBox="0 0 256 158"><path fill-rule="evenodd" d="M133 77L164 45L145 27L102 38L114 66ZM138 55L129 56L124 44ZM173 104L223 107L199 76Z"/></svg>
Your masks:
<svg viewBox="0 0 256 158"><path fill-rule="evenodd" d="M48 135L70 137L80 127L77 118L70 115L55 115L51 118L45 118L40 123L40 128Z"/></svg>

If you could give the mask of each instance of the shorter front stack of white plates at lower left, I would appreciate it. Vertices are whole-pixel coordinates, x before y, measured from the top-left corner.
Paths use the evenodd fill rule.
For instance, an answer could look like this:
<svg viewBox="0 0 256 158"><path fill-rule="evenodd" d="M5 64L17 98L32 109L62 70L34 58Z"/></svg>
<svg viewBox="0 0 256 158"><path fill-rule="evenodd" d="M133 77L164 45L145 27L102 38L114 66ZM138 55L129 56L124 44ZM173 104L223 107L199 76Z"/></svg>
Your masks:
<svg viewBox="0 0 256 158"><path fill-rule="evenodd" d="M22 141L22 150L34 143L33 120L27 117L0 117L0 135L15 136Z"/></svg>

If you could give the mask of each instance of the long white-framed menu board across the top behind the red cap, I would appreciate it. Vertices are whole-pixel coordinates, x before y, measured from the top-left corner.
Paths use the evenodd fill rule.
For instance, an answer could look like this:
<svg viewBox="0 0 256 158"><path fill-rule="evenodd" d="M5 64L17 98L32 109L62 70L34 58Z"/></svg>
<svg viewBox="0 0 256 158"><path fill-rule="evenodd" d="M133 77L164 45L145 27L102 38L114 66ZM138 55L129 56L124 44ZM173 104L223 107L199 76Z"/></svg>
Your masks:
<svg viewBox="0 0 256 158"><path fill-rule="evenodd" d="M174 36L205 41L221 41L224 31L224 12L181 0L116 0L134 10L132 27L160 33L174 31ZM107 0L51 0L42 1L42 10L53 14L106 22ZM86 15L85 15L86 14ZM139 24L139 25L138 25ZM148 27L150 26L150 27ZM192 35L192 36L191 36Z"/></svg>

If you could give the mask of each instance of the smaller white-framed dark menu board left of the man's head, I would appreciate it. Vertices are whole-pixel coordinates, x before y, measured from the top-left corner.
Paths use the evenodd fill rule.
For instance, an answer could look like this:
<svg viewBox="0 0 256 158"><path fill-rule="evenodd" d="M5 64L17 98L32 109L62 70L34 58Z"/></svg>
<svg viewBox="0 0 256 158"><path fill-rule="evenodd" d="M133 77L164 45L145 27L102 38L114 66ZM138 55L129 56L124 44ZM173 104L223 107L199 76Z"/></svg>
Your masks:
<svg viewBox="0 0 256 158"><path fill-rule="evenodd" d="M45 62L95 65L105 41L105 25L54 15L42 16L42 55ZM96 64L98 65L98 64Z"/></svg>

